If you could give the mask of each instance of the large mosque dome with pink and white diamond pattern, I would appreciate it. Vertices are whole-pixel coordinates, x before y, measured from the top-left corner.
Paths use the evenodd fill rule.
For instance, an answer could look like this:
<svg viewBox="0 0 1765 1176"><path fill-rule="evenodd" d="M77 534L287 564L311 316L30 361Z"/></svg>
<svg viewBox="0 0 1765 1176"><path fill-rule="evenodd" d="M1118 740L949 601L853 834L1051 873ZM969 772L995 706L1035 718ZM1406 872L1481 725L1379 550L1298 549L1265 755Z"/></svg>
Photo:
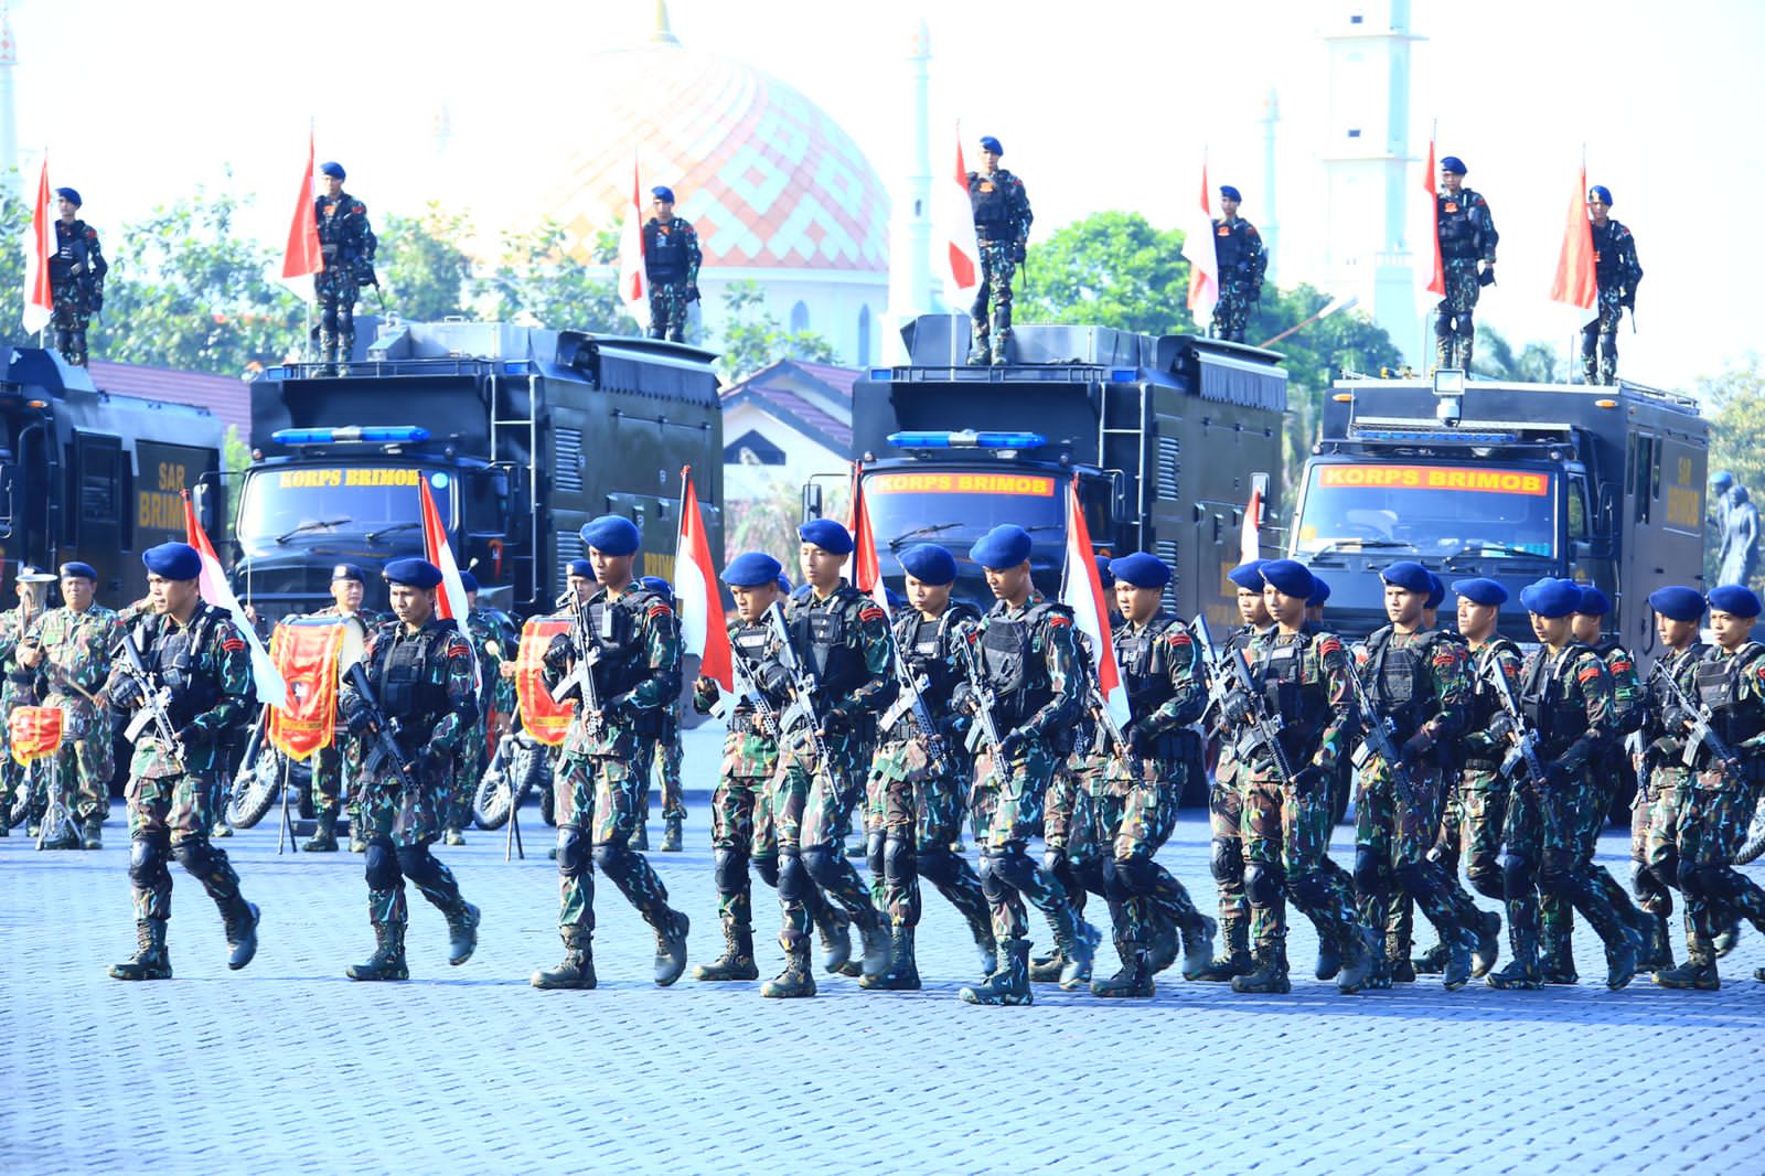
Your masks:
<svg viewBox="0 0 1765 1176"><path fill-rule="evenodd" d="M630 208L635 164L644 214L672 187L708 268L886 274L888 192L851 136L777 78L680 44L665 14L648 44L586 57L570 104L538 214L581 261Z"/></svg>

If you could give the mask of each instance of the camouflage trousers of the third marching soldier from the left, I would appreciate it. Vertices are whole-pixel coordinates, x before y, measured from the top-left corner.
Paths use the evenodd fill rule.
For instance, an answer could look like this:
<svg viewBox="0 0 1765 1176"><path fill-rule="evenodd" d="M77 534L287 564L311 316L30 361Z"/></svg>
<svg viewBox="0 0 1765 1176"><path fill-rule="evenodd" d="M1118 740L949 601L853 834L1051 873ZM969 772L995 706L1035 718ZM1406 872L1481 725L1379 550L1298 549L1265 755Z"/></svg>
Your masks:
<svg viewBox="0 0 1765 1176"><path fill-rule="evenodd" d="M669 923L667 886L644 855L630 848L637 832L651 743L632 756L565 754L552 777L558 818L558 929L572 946L595 932L595 869L651 927Z"/></svg>

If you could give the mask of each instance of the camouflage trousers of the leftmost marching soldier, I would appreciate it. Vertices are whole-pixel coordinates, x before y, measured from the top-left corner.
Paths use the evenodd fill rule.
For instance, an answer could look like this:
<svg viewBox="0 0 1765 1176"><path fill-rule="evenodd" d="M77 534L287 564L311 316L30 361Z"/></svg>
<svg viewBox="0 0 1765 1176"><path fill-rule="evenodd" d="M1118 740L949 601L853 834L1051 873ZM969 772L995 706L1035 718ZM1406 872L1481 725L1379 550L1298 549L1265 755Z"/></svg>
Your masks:
<svg viewBox="0 0 1765 1176"><path fill-rule="evenodd" d="M208 842L215 818L214 786L215 779L208 773L129 780L129 888L136 920L171 918L171 858L203 885L222 915L238 911L238 874L226 851Z"/></svg>

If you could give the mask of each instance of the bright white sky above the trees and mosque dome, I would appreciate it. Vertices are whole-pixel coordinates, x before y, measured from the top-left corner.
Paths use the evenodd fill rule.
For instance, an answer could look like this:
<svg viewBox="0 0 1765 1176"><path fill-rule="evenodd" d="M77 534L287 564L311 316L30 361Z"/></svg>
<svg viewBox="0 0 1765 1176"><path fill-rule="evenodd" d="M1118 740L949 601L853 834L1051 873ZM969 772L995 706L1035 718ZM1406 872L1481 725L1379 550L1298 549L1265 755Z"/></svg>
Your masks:
<svg viewBox="0 0 1765 1176"><path fill-rule="evenodd" d="M242 231L281 244L312 125L321 159L379 215L429 200L494 217L547 187L595 111L572 102L593 55L641 44L653 0L519 5L388 0L252 5L12 0L18 136L26 164L79 187L118 226L198 185L252 200ZM909 162L907 48L932 42L934 168L946 129L1006 147L1036 237L1107 208L1181 228L1205 152L1213 180L1271 219L1258 118L1278 95L1273 219L1283 284L1322 284L1320 30L1375 0L674 0L681 42L750 64L822 106L900 192ZM1620 371L1689 388L1760 350L1761 245L1735 217L1765 191L1744 124L1765 109L1765 4L1694 9L1416 0L1412 150L1465 159L1502 235L1479 320L1516 344L1569 348L1580 314L1548 302L1585 150L1647 277ZM436 122L452 129L438 162ZM1417 171L1419 175L1419 171ZM108 245L115 256L118 245Z"/></svg>

